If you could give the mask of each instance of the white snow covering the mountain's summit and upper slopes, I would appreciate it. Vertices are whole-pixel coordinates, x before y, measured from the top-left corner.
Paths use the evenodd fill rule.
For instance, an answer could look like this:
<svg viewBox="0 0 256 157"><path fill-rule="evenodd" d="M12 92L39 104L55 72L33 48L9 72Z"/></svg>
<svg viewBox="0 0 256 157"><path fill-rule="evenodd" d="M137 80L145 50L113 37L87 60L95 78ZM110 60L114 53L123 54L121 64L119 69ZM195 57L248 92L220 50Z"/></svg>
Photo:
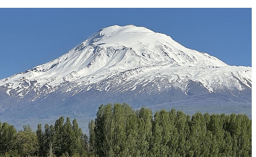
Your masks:
<svg viewBox="0 0 256 157"><path fill-rule="evenodd" d="M117 79L115 82L123 86L122 91L133 91L138 84L144 87L157 80L166 80L165 88L177 86L184 92L189 80L201 82L210 92L220 87L241 91L241 82L251 88L251 73L251 67L229 66L216 57L188 49L171 37L145 27L115 25L99 30L51 62L0 80L0 86L8 84L6 93L11 96L11 90L15 89L17 93L13 95L20 97L31 90L37 97L39 91L46 95L67 82L77 85L67 88L67 92L76 88L79 92L89 91L91 85L108 78ZM109 91L112 81L108 80L98 89ZM161 86L157 86L161 91Z"/></svg>

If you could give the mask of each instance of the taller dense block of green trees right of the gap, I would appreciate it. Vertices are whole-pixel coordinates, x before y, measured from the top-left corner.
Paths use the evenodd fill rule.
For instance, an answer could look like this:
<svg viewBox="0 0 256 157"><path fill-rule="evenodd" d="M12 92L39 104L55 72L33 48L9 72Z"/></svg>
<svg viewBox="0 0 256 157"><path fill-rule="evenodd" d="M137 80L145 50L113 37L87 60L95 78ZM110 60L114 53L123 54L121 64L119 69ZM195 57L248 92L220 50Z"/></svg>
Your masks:
<svg viewBox="0 0 256 157"><path fill-rule="evenodd" d="M182 111L133 111L127 104L101 105L89 123L90 150L101 157L251 157L246 115Z"/></svg>

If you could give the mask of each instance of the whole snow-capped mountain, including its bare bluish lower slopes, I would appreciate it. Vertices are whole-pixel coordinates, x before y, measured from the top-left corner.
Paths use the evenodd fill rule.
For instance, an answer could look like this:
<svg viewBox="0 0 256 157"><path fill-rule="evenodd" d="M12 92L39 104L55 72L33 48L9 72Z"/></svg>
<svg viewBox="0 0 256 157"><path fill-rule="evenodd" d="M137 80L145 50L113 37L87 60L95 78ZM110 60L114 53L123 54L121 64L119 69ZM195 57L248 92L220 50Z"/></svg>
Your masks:
<svg viewBox="0 0 256 157"><path fill-rule="evenodd" d="M251 73L145 27L115 25L51 62L0 80L0 121L90 119L108 102L139 108L214 98L251 105Z"/></svg>

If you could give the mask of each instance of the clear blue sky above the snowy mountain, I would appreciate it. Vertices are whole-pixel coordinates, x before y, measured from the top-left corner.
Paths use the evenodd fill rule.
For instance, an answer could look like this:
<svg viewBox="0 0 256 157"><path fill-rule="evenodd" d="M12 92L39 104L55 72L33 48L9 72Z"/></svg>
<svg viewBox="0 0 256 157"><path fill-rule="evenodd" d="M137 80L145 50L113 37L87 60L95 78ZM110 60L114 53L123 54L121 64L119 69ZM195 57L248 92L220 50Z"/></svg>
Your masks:
<svg viewBox="0 0 256 157"><path fill-rule="evenodd" d="M229 65L252 66L251 8L0 8L0 79L60 57L103 27L128 24Z"/></svg>

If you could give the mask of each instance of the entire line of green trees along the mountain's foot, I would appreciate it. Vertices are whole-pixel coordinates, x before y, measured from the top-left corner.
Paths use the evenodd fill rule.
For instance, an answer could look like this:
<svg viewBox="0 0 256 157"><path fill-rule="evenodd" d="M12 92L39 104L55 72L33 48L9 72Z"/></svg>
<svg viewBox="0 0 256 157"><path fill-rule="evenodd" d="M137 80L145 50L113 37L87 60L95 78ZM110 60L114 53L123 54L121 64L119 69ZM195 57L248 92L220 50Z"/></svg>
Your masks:
<svg viewBox="0 0 256 157"><path fill-rule="evenodd" d="M0 122L0 157L251 157L252 120L242 114L192 117L172 109L153 113L127 104L99 106L88 124L60 117L54 125L16 131Z"/></svg>

